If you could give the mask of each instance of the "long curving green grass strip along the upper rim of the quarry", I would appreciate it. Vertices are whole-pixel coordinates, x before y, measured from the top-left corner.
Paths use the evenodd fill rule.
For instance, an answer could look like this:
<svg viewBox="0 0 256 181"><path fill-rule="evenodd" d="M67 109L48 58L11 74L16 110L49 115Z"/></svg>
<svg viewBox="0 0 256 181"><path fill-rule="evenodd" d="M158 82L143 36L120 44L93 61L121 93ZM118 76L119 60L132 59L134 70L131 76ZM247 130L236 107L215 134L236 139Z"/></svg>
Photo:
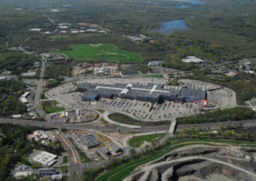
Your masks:
<svg viewBox="0 0 256 181"><path fill-rule="evenodd" d="M222 146L225 145L237 145L237 146L246 146L246 147L256 147L255 141L236 141L236 140L214 140L214 139L188 139L188 140L174 140L170 141L168 144L159 148L158 150L151 152L150 154L146 154L145 156L141 156L138 159L131 159L131 161L124 163L120 166L116 166L115 168L103 173L99 177L97 177L97 181L116 181L123 180L125 177L130 175L132 171L141 164L148 163L150 161L154 161L159 157L167 154L168 152L175 150L180 147L184 147L186 145L193 145L201 143L203 145L216 145L216 143L223 143Z"/></svg>

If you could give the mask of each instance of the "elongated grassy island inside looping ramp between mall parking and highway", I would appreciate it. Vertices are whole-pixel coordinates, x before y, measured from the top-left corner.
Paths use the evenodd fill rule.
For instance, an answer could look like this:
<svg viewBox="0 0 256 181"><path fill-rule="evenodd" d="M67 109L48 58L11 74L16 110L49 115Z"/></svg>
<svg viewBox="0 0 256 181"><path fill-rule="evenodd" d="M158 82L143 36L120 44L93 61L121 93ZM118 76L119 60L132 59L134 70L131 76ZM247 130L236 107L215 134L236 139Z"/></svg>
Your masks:
<svg viewBox="0 0 256 181"><path fill-rule="evenodd" d="M108 115L109 119L120 122L122 124L130 124L130 125L136 125L136 126L159 126L159 125L170 125L170 120L163 120L158 122L146 122L146 121L140 121L133 119L132 117L129 117L128 115L124 115L122 113L111 113Z"/></svg>

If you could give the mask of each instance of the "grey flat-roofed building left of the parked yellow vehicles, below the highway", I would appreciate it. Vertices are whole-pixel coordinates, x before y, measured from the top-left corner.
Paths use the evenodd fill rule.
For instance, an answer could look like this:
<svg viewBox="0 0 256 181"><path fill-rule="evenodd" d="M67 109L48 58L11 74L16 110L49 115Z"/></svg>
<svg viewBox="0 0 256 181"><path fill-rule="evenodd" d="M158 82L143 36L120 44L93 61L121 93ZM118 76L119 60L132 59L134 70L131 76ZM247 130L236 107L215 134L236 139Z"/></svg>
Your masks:
<svg viewBox="0 0 256 181"><path fill-rule="evenodd" d="M88 133L88 134L79 133L76 136L76 138L81 143L83 143L83 145L86 149L94 148L94 147L97 147L99 145L99 142L94 138L93 134L90 134L90 133Z"/></svg>

